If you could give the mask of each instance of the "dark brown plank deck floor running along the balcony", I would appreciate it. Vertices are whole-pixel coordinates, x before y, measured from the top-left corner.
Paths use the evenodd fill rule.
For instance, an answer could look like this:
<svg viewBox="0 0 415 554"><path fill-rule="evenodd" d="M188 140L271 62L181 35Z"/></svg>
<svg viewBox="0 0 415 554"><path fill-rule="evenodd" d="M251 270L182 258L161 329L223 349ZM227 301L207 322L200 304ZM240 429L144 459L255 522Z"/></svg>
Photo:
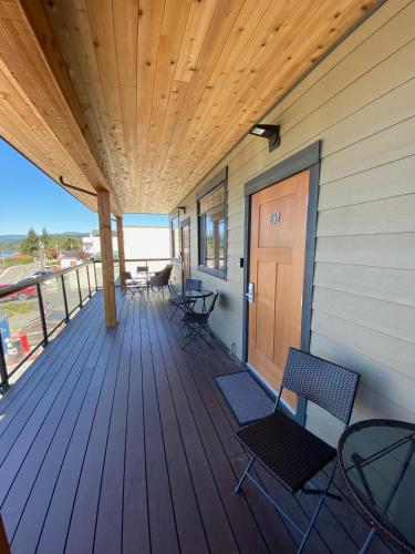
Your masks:
<svg viewBox="0 0 415 554"><path fill-rule="evenodd" d="M0 505L13 554L291 553L298 537L250 483L215 375L240 370L220 346L181 351L162 297L97 294L0 402ZM258 475L300 520L293 500ZM329 501L307 552L356 552L366 525ZM372 552L390 552L382 543Z"/></svg>

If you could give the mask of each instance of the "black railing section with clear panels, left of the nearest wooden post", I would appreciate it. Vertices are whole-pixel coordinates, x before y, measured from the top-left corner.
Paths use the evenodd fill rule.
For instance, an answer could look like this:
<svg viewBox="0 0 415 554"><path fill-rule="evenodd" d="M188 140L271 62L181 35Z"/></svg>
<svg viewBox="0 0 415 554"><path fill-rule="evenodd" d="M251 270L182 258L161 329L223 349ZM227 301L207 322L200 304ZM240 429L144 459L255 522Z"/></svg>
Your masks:
<svg viewBox="0 0 415 554"><path fill-rule="evenodd" d="M100 285L96 263L86 261L0 289L0 388L2 390L10 387L10 378L40 347L48 346L52 335L62 324L68 324L73 312L81 309L97 288ZM2 309L4 302L8 302L7 308ZM61 309L53 309L52 302ZM13 329L15 324L10 325L9 311L12 312L10 320L20 316L24 322L22 329ZM29 316L29 319L22 314ZM6 334L8 336L4 336ZM15 348L10 348L12 353L4 348L7 343L15 345Z"/></svg>

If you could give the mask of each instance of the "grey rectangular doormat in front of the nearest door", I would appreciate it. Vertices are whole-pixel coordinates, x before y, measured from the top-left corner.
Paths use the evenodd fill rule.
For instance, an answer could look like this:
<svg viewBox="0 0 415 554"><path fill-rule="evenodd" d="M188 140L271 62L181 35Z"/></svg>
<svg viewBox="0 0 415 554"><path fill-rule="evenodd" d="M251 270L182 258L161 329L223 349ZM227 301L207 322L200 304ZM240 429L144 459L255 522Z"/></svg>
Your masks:
<svg viewBox="0 0 415 554"><path fill-rule="evenodd" d="M276 400L249 371L218 376L215 381L240 425L273 411Z"/></svg>

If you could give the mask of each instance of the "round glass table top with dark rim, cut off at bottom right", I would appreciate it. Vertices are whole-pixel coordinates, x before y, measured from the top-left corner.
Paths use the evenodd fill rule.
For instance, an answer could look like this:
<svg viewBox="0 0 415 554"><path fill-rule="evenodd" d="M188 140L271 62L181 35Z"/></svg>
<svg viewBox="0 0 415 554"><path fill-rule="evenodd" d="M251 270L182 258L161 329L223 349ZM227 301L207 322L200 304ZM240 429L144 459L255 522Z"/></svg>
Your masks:
<svg viewBox="0 0 415 554"><path fill-rule="evenodd" d="M415 424L384 419L354 423L340 438L339 466L363 515L415 552Z"/></svg>

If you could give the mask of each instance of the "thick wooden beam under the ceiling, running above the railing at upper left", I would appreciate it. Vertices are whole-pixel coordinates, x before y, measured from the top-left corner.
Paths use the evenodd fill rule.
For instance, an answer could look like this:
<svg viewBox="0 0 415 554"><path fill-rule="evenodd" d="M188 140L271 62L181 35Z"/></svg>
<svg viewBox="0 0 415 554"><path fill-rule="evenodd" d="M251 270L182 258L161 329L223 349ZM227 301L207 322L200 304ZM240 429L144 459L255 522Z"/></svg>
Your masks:
<svg viewBox="0 0 415 554"><path fill-rule="evenodd" d="M111 177L103 168L66 63L40 0L0 0L0 66L10 85L53 135L56 153L61 153L62 148L65 151L92 191L110 189L112 211L121 214ZM34 140L37 131L33 130ZM7 138L13 144L12 132ZM19 146L31 157L30 147L24 148L24 140ZM55 178L55 171L49 172L44 161L40 165ZM65 167L62 167L61 175L70 181ZM80 185L77 182L71 184Z"/></svg>

